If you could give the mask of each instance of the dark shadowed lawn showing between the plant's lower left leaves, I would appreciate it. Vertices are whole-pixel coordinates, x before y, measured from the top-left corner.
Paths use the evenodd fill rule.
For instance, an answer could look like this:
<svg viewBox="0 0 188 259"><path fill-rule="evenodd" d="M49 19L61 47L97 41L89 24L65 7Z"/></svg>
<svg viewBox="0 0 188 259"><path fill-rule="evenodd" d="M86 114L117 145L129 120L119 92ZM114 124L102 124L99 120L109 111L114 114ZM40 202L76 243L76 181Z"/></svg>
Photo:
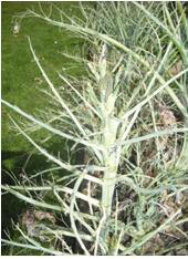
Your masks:
<svg viewBox="0 0 188 259"><path fill-rule="evenodd" d="M50 153L56 153L56 151L62 149L62 143L54 143L48 149ZM61 155L65 155L65 151L62 149ZM18 185L18 180L21 184L23 177L30 177L36 173L54 167L54 164L46 160L42 155L27 153L27 152L12 152L2 151L1 152L1 183L2 185ZM56 165L55 165L56 167ZM63 169L55 172L55 174L61 174L62 176L67 174ZM52 173L45 173L43 178L52 179ZM34 177L34 183L40 185L42 177L39 175ZM18 222L19 216L28 208L28 205L14 197L11 194L3 194L1 199L1 237L7 238L4 230L12 231L11 220Z"/></svg>

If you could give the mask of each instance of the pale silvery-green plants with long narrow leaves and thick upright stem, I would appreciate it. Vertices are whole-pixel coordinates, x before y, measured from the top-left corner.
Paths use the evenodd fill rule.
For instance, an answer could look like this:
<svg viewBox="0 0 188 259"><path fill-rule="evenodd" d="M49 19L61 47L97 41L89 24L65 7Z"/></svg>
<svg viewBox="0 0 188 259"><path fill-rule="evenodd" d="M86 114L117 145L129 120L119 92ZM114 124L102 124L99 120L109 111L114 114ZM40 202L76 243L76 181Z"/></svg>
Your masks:
<svg viewBox="0 0 188 259"><path fill-rule="evenodd" d="M20 239L3 242L41 255L186 255L188 31L182 6L98 2L95 9L81 6L82 20L55 11L60 21L41 10L24 14L87 40L92 58L80 58L85 68L80 77L61 71L63 86L56 87L28 38L50 106L31 116L20 104L2 102L30 121L11 116L51 164L45 175L39 170L2 186L34 207L14 226ZM39 128L67 139L67 155L51 151L53 138L39 142ZM72 159L79 153L87 158Z"/></svg>

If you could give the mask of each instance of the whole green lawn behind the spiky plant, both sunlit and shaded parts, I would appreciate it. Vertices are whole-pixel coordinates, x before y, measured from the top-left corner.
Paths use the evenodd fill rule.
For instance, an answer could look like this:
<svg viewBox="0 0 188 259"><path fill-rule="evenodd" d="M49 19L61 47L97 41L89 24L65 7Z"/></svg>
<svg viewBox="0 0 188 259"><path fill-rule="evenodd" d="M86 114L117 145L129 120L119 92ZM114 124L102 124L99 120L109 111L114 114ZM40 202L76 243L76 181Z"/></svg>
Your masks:
<svg viewBox="0 0 188 259"><path fill-rule="evenodd" d="M60 2L59 6L69 15L79 15L76 2ZM44 11L49 12L49 3L44 2L42 7ZM72 61L62 55L64 51L69 51L69 53L74 52L76 46L82 45L82 42L67 32L50 27L45 22L33 18L23 19L19 34L14 35L12 31L14 24L13 15L25 11L28 8L39 9L39 3L2 2L2 99L30 114L34 114L35 110L48 105L46 100L39 91L39 89L48 87L48 85L33 61L27 35L31 38L38 58L56 86L61 85L56 71L61 72L67 69L67 72L74 73L74 75L82 73L81 68L73 68ZM32 174L36 169L45 169L48 167L45 158L35 154L31 144L12 130L9 115L12 115L17 121L21 120L18 114L2 106L3 184L12 183L6 172L12 172L15 177L19 177L24 172ZM35 141L39 141L45 137L45 133L35 132L32 136L34 136ZM62 143L58 143L54 138L49 149L53 152L59 148L63 152L62 146ZM25 163L31 153L31 157ZM2 229L7 229L10 226L11 218L18 220L18 214L22 209L24 209L23 203L19 204L19 200L11 195L3 196Z"/></svg>

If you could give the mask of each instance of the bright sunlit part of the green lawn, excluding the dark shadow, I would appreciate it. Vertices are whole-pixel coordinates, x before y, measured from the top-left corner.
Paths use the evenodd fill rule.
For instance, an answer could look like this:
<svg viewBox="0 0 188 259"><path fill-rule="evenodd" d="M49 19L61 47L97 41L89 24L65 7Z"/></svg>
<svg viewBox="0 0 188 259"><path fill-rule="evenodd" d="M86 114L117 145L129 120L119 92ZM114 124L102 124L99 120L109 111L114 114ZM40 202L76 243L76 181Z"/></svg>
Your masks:
<svg viewBox="0 0 188 259"><path fill-rule="evenodd" d="M71 13L71 3L64 3L64 10ZM34 49L38 51L40 59L43 61L44 68L50 73L54 82L58 84L60 81L56 79L56 71L61 72L62 69L72 66L69 59L64 58L61 52L65 49L74 51L74 46L80 44L80 40L73 40L69 37L67 32L62 32L53 27L46 28L44 22L35 23L36 21L27 20L21 25L18 35L12 32L13 15L17 12L22 12L27 8L39 9L35 2L3 2L2 3L2 96L15 105L20 105L28 112L33 112L35 108L41 108L46 104L44 99L41 99L41 93L36 91L38 87L44 86L44 81L40 75L35 63L29 50L27 35L31 39L34 37ZM44 4L44 10L49 10L49 4ZM36 25L38 24L38 25ZM44 51L45 46L45 51ZM52 62L50 62L51 60ZM63 66L62 66L63 64ZM32 71L32 73L31 73ZM80 69L76 69L77 73ZM75 68L74 68L75 72ZM32 99L31 99L32 96ZM12 137L14 134L9 128L9 118L6 113L6 107L2 110L3 124L2 124L2 148L4 151L27 151L28 144L21 137L14 137L12 145Z"/></svg>

